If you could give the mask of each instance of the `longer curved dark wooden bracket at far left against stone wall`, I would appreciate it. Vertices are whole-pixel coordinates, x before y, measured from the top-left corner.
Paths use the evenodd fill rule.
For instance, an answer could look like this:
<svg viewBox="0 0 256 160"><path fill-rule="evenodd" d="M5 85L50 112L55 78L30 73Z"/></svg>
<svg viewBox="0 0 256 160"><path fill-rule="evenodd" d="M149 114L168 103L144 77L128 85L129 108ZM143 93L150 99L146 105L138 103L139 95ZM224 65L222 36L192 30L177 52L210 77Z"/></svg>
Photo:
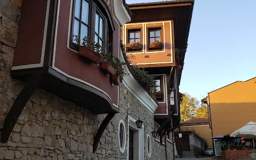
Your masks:
<svg viewBox="0 0 256 160"><path fill-rule="evenodd" d="M19 95L15 99L12 108L7 114L4 120L3 131L1 135L1 142L6 143L11 135L14 125L16 124L23 108L25 107L27 101L41 83L42 73L33 74L29 81L26 83L25 87L20 91Z"/></svg>

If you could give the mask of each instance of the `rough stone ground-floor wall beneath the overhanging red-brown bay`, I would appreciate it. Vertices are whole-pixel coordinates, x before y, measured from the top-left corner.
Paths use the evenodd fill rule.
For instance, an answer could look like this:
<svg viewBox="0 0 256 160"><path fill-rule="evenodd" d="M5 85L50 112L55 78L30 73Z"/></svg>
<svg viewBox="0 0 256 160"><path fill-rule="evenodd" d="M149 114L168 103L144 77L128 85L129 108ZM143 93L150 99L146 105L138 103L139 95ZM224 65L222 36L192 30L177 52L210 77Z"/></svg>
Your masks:
<svg viewBox="0 0 256 160"><path fill-rule="evenodd" d="M0 3L0 129L3 128L4 119L15 98L25 85L10 77L21 3L21 0L1 0ZM118 144L119 121L123 119L125 122L127 134L128 114L137 115L151 127L154 127L154 114L123 84L119 91L121 113L116 114L109 123L95 154L92 153L93 137L106 114L95 115L75 103L37 89L22 111L9 141L0 143L0 159L126 159L129 140L126 135L126 147L122 154ZM144 157L165 159L165 146L153 137L152 155L148 157L147 134L151 136L151 127L145 126L144 130ZM170 142L167 142L167 148L171 155Z"/></svg>

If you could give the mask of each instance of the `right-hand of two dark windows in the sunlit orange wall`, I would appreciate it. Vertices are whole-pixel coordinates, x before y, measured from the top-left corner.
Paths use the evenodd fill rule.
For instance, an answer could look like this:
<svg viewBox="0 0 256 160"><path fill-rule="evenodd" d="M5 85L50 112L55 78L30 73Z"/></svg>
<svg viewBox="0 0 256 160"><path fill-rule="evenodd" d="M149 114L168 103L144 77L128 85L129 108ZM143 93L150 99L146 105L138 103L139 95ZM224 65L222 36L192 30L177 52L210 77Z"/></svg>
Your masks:
<svg viewBox="0 0 256 160"><path fill-rule="evenodd" d="M163 42L163 31L162 27L148 28L148 49L149 50L162 50L162 45L159 48L150 47L150 43L159 41Z"/></svg>

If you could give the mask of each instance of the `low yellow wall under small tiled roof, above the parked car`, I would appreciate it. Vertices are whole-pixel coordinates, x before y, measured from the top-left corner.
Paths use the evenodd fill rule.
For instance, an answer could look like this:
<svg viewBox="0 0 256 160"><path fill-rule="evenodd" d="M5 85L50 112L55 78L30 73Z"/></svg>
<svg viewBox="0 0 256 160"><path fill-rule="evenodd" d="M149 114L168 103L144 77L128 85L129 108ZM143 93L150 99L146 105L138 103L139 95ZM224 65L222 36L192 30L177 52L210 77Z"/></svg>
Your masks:
<svg viewBox="0 0 256 160"><path fill-rule="evenodd" d="M206 124L197 124L197 125L181 125L181 130L186 131L186 130L195 130L197 133L200 134L201 137L205 138L205 140L208 143L208 147L212 147L212 132L210 129L209 125Z"/></svg>

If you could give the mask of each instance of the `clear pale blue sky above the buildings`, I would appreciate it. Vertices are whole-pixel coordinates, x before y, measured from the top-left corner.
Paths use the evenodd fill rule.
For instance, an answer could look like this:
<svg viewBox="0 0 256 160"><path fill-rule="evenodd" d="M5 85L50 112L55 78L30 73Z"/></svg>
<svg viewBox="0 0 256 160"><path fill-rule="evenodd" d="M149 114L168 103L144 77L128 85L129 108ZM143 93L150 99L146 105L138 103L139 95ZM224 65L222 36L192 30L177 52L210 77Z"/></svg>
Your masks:
<svg viewBox="0 0 256 160"><path fill-rule="evenodd" d="M160 1L126 0L145 2ZM195 0L180 92L201 100L207 92L256 77L255 6L255 0Z"/></svg>

